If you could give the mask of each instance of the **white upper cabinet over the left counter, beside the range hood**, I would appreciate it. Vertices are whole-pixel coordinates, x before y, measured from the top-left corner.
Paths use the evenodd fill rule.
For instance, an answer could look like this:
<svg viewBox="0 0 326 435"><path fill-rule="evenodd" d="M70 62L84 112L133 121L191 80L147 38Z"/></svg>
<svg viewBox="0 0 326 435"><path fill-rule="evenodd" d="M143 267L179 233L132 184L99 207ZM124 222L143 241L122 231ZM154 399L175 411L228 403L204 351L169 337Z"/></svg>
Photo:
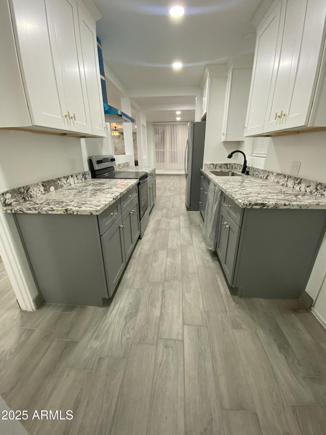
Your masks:
<svg viewBox="0 0 326 435"><path fill-rule="evenodd" d="M9 90L21 86L20 76L24 91L15 101L19 110L2 116L0 109L0 127L105 136L102 115L101 122L92 125L91 110L97 117L103 111L98 90L97 104L92 96L91 107L88 97L91 88L98 87L95 21L89 20L90 27L93 24L90 47L89 41L85 42L87 17L80 17L80 30L76 0L5 0L0 14L13 25L0 28L0 40L10 41L17 59L14 65L14 56L5 51L15 73L5 76L0 67L0 87L8 89L9 96Z"/></svg>

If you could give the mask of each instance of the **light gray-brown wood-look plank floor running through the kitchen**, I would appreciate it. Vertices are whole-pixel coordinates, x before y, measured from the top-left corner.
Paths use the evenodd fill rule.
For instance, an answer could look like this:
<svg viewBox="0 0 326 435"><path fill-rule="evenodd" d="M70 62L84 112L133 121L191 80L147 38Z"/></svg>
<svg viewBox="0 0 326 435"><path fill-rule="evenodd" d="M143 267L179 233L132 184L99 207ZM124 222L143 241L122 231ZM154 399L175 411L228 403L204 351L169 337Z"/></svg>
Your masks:
<svg viewBox="0 0 326 435"><path fill-rule="evenodd" d="M326 434L326 330L297 301L231 296L184 178L157 201L107 308L17 308L0 262L0 394L34 434Z"/></svg>

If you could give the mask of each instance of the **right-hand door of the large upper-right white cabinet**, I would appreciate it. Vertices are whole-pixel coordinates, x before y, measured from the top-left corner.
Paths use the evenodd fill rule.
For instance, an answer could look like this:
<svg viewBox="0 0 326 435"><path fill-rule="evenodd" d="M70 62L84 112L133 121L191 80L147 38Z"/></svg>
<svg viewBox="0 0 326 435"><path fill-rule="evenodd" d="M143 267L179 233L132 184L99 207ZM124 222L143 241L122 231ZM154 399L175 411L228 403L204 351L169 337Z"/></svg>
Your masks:
<svg viewBox="0 0 326 435"><path fill-rule="evenodd" d="M308 0L308 2L307 0L300 0L300 2L296 0L297 8L299 4L300 16L298 18L300 21L297 20L293 29L297 38L295 56L293 56L296 63L291 68L283 109L286 116L282 119L282 129L309 124L324 47L326 2L324 0ZM302 20L305 20L304 29L302 29Z"/></svg>

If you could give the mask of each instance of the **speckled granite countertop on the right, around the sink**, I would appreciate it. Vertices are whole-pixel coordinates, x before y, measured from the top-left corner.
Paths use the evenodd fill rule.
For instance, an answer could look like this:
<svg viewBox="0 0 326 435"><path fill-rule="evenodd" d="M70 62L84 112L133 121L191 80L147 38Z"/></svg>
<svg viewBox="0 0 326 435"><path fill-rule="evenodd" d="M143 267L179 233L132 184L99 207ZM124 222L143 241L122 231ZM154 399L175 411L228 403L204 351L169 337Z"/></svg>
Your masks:
<svg viewBox="0 0 326 435"><path fill-rule="evenodd" d="M216 176L210 170L201 171L241 208L326 209L326 198L280 186L262 178L251 175Z"/></svg>

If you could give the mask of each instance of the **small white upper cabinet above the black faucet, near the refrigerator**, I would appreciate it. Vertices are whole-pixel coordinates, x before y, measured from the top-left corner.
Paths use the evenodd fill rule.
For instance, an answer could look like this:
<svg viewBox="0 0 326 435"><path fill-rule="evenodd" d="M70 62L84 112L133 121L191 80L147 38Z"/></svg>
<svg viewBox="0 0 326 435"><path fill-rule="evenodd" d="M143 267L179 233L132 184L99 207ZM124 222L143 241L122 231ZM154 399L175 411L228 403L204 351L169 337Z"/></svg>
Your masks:
<svg viewBox="0 0 326 435"><path fill-rule="evenodd" d="M252 68L231 68L225 94L222 142L243 141Z"/></svg>

